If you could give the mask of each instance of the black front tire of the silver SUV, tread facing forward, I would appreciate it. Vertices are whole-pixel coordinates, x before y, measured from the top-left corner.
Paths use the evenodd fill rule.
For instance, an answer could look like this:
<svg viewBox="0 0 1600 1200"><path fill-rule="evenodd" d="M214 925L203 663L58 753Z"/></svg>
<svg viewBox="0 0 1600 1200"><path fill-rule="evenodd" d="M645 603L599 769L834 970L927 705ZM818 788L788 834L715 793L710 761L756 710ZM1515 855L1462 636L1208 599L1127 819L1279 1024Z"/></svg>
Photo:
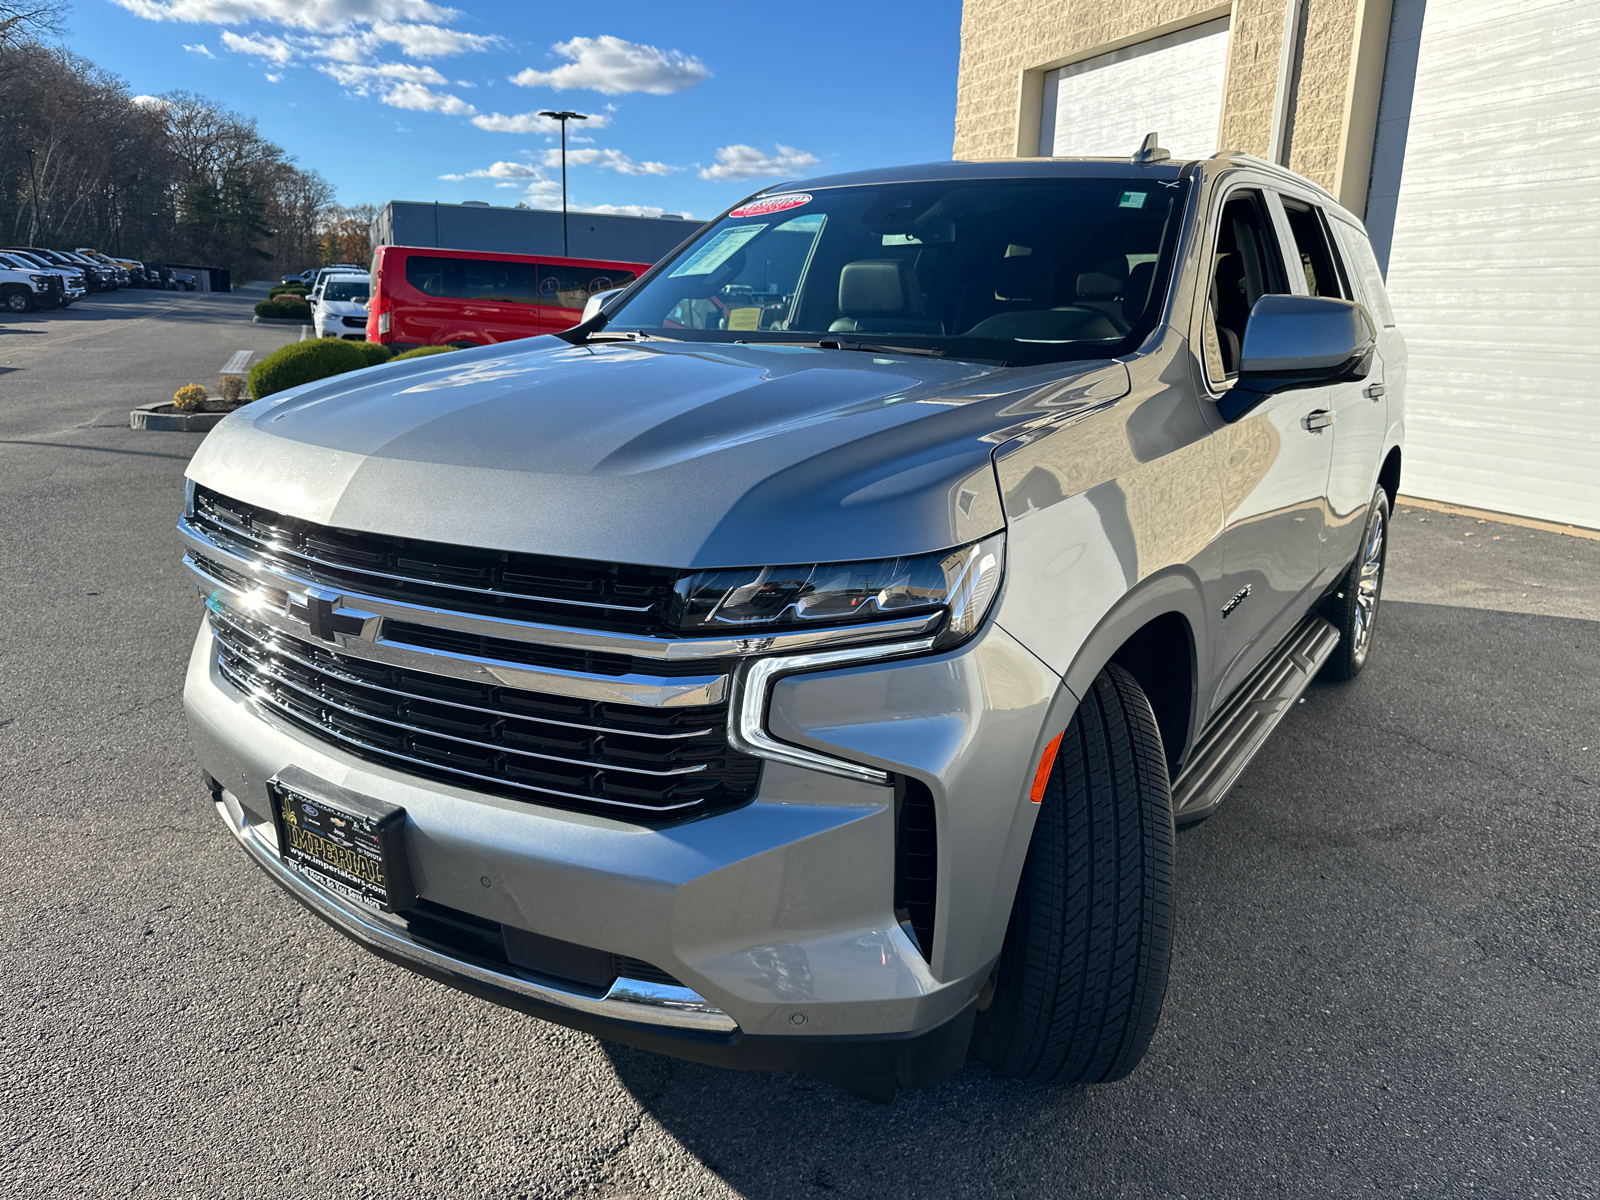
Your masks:
<svg viewBox="0 0 1600 1200"><path fill-rule="evenodd" d="M1155 714L1109 666L1061 738L973 1051L1000 1075L1109 1083L1166 998L1173 802Z"/></svg>

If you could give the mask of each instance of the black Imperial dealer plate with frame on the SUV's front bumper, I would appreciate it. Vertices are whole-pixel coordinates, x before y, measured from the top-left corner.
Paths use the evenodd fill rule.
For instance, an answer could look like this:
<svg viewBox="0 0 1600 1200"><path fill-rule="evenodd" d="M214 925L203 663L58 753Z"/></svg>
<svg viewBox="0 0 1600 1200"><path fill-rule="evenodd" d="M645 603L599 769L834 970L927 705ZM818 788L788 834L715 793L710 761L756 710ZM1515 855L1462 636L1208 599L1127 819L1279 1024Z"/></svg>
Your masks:
<svg viewBox="0 0 1600 1200"><path fill-rule="evenodd" d="M405 808L293 766L269 779L267 792L283 866L379 912L403 912L416 904L405 853Z"/></svg>

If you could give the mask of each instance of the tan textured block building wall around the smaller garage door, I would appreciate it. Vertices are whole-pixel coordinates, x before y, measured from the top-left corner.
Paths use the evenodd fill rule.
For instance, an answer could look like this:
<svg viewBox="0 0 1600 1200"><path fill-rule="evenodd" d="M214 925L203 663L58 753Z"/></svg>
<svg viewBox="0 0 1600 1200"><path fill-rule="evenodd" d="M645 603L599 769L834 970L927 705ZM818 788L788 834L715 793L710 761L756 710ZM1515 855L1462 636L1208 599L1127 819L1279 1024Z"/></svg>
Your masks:
<svg viewBox="0 0 1600 1200"><path fill-rule="evenodd" d="M1221 149L1266 157L1294 0L966 0L955 157L1030 157L1046 70L1230 18ZM1288 165L1360 211L1371 163L1389 0L1309 0ZM1291 59L1294 56L1291 54Z"/></svg>

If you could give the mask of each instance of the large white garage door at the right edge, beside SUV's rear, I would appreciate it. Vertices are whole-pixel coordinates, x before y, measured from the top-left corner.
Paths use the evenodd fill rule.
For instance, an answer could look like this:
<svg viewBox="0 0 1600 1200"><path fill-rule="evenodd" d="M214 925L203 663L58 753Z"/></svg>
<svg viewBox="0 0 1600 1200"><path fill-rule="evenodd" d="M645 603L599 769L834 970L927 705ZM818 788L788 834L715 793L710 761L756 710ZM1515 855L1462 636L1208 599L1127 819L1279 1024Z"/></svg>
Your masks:
<svg viewBox="0 0 1600 1200"><path fill-rule="evenodd" d="M1402 490L1600 528L1600 0L1427 0L1389 294Z"/></svg>

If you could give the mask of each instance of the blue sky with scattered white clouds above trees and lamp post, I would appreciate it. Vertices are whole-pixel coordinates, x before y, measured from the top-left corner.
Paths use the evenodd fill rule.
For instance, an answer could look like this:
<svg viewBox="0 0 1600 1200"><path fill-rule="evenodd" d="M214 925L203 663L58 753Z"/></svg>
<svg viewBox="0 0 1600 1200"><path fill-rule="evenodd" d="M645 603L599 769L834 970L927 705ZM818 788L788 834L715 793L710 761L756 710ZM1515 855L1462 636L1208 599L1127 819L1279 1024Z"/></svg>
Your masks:
<svg viewBox="0 0 1600 1200"><path fill-rule="evenodd" d="M960 0L795 5L75 0L69 45L134 93L254 117L339 202L714 216L781 179L950 157ZM595 128L598 126L598 128ZM637 208L635 208L637 206Z"/></svg>

